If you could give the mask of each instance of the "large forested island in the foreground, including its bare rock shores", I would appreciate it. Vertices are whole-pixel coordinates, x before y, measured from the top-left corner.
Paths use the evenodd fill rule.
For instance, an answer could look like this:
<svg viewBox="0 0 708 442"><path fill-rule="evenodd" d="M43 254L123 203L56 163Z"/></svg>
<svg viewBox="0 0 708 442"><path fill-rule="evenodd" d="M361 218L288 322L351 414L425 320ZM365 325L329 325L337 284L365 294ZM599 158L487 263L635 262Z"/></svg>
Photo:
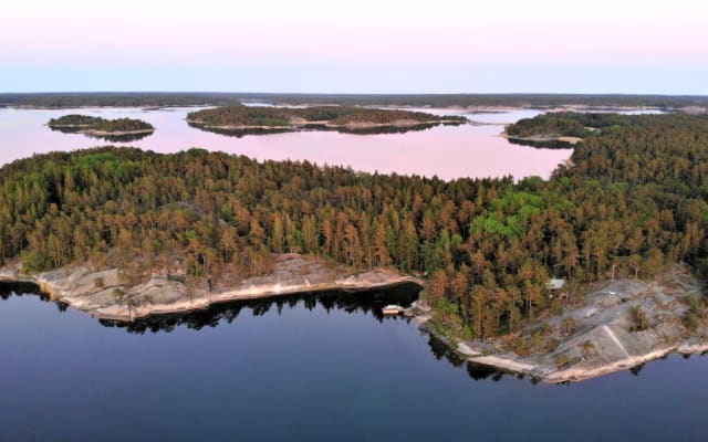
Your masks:
<svg viewBox="0 0 708 442"><path fill-rule="evenodd" d="M552 381L708 348L708 117L566 113L507 131L583 140L550 180L519 182L200 149L18 160L0 169L0 276L40 275L60 298L77 290L76 307L96 295L128 319L258 284L278 295L425 277L434 333ZM158 305L165 287L171 304Z"/></svg>

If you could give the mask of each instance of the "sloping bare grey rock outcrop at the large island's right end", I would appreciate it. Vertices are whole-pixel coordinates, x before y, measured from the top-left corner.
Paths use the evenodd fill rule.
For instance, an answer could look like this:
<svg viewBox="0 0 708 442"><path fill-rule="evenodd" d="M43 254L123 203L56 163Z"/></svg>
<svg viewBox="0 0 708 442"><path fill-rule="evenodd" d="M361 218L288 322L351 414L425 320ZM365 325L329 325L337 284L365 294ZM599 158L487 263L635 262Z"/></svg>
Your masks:
<svg viewBox="0 0 708 442"><path fill-rule="evenodd" d="M551 383L575 382L626 370L670 352L708 351L708 329L685 326L690 303L699 303L702 285L684 271L662 281L617 280L591 291L582 303L559 316L539 319L519 334L543 340L520 355L502 338L457 341L472 364L529 375ZM646 315L637 327L636 312ZM548 344L553 343L553 344Z"/></svg>

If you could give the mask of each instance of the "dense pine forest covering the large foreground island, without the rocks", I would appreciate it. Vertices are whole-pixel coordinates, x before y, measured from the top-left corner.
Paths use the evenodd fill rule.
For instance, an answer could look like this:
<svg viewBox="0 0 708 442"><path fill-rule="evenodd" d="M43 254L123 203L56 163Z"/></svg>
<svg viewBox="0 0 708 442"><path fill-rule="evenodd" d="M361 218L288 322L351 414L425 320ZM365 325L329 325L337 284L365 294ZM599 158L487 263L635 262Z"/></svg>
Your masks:
<svg viewBox="0 0 708 442"><path fill-rule="evenodd" d="M674 263L705 274L708 117L551 117L554 130L594 130L548 181L442 181L200 149L34 156L0 169L0 260L21 257L31 272L90 260L134 281L174 263L210 281L264 274L281 252L395 265L426 274L439 323L477 338L574 303L595 281ZM551 276L568 280L568 296L549 296Z"/></svg>

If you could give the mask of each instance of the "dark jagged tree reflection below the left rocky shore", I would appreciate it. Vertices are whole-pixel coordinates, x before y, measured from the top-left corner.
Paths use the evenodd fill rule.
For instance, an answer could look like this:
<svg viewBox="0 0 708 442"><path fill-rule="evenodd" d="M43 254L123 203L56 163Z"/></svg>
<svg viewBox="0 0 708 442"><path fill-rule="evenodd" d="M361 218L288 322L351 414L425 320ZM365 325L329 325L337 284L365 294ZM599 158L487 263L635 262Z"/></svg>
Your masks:
<svg viewBox="0 0 708 442"><path fill-rule="evenodd" d="M410 305L418 298L420 288L415 284L406 284L398 287L375 292L320 292L296 295L285 295L261 299L246 299L231 303L216 304L206 311L192 312L184 315L160 315L133 323L116 320L101 320L106 327L125 328L128 333L144 334L146 332L169 333L177 327L201 329L204 327L217 327L221 324L231 324L243 309L251 311L253 316L262 316L275 306L280 315L283 308L302 306L309 311L317 305L326 312L332 309L346 312L348 314L364 313L372 314L382 322L384 315L382 308L387 304Z"/></svg>

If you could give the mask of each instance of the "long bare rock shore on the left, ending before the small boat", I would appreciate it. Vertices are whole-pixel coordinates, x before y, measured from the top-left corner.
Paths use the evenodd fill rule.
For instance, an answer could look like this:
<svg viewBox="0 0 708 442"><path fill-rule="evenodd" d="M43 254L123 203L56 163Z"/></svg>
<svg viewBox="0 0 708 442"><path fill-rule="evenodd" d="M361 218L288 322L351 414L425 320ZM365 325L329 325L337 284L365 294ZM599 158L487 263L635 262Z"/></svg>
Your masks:
<svg viewBox="0 0 708 442"><path fill-rule="evenodd" d="M54 301L100 319L121 322L206 309L212 304L239 299L320 291L369 291L408 283L423 285L418 278L391 269L353 272L298 254L278 255L271 275L233 284L222 282L211 290L187 284L184 275L167 271L153 274L140 284L128 285L117 269L96 270L88 265L23 275L15 263L0 269L0 281L34 283Z"/></svg>

